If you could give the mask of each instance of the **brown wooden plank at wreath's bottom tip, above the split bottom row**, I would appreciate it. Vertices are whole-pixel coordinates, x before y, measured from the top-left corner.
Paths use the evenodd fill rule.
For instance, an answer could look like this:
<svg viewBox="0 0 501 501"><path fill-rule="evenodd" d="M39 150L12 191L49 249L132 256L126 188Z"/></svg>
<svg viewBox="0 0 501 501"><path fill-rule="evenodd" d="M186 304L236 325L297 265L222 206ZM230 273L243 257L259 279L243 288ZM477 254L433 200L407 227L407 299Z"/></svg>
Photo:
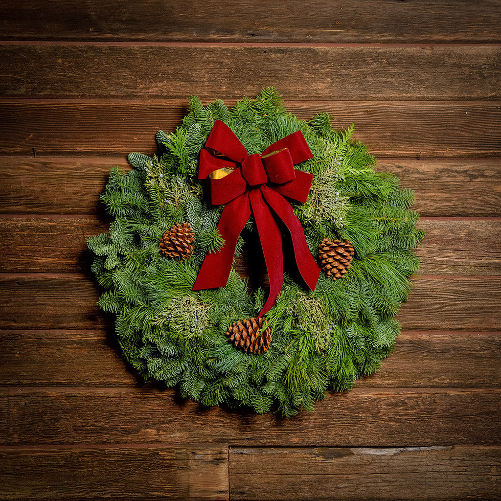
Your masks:
<svg viewBox="0 0 501 501"><path fill-rule="evenodd" d="M3 392L4 393L4 392ZM330 394L315 413L204 408L174 390L13 388L7 444L228 443L246 446L498 445L499 389L371 389Z"/></svg>

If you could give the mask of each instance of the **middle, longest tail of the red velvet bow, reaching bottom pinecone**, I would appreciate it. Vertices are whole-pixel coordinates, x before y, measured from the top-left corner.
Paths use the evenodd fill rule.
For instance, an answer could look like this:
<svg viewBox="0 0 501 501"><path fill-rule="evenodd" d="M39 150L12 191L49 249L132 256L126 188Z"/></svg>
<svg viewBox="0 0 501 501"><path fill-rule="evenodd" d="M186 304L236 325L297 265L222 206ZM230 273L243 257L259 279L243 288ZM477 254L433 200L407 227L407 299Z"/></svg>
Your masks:
<svg viewBox="0 0 501 501"><path fill-rule="evenodd" d="M250 204L258 227L259 239L263 247L266 269L270 279L270 293L265 306L258 315L262 317L267 313L277 300L284 281L284 255L282 250L282 234L273 217L270 208L263 200L261 190L252 190L249 194Z"/></svg>

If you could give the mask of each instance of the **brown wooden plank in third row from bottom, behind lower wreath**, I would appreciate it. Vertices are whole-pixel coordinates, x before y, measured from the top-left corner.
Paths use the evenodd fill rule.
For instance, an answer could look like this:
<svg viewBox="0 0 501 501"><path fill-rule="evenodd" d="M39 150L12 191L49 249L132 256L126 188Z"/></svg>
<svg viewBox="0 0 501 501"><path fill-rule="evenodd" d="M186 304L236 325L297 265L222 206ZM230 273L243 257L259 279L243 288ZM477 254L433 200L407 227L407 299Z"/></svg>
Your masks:
<svg viewBox="0 0 501 501"><path fill-rule="evenodd" d="M403 332L357 388L501 388L501 333ZM2 386L150 387L104 331L3 331Z"/></svg>

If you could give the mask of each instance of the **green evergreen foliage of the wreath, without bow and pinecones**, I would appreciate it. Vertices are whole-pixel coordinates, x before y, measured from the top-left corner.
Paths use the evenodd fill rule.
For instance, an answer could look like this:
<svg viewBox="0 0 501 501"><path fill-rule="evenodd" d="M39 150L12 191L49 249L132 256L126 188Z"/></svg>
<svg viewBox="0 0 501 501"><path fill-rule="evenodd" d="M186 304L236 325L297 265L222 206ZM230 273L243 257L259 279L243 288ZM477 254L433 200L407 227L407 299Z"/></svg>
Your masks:
<svg viewBox="0 0 501 501"><path fill-rule="evenodd" d="M255 317L263 288L249 291L232 269L225 287L192 291L207 253L224 241L217 231L222 207L204 200L197 179L200 149L215 120L226 123L249 153L301 130L313 153L299 169L314 174L306 203L293 203L314 256L324 237L349 238L355 257L342 280L321 275L314 292L288 274L266 315L273 341L263 355L227 342L227 327ZM353 139L353 127L335 131L327 113L309 122L287 112L273 89L228 109L189 99L189 113L172 133L159 131L159 155L131 153L133 169L111 171L101 196L113 222L90 237L92 271L106 290L101 308L116 315L125 358L145 379L178 386L204 405L247 406L285 416L313 410L330 388L349 390L376 371L399 333L394 316L418 269L413 249L424 232L409 210L413 193L391 174L373 170L375 158ZM161 255L158 241L173 224L189 221L194 253L187 261ZM253 234L250 218L246 230ZM236 254L242 250L238 238Z"/></svg>

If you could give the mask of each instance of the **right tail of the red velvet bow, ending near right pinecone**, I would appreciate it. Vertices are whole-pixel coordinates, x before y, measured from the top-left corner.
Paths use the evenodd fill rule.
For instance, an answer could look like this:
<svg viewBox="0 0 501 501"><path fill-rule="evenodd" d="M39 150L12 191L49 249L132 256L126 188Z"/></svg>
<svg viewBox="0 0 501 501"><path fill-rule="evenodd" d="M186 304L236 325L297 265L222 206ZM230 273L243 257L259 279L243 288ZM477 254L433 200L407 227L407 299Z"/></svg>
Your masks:
<svg viewBox="0 0 501 501"><path fill-rule="evenodd" d="M262 186L261 190L270 207L289 228L299 273L308 287L314 291L321 271L310 252L300 220L294 214L292 205L281 194L268 186Z"/></svg>

